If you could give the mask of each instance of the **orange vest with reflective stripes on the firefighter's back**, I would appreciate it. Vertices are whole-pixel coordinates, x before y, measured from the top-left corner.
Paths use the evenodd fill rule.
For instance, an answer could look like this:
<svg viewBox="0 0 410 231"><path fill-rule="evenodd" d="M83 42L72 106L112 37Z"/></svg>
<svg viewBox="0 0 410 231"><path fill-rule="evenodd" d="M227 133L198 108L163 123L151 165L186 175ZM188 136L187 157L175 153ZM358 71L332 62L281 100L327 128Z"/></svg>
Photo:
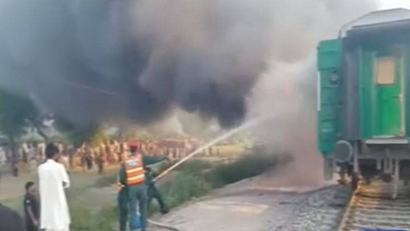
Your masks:
<svg viewBox="0 0 410 231"><path fill-rule="evenodd" d="M125 163L125 172L127 176L127 185L134 185L144 182L145 171L142 163L142 155L129 157Z"/></svg>

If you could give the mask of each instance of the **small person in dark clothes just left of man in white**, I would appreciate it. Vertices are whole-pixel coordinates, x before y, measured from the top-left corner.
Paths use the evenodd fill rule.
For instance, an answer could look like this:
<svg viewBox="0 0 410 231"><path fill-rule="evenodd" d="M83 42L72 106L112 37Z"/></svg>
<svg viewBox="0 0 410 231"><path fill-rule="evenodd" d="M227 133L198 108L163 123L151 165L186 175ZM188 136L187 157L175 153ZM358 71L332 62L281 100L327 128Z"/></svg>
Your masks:
<svg viewBox="0 0 410 231"><path fill-rule="evenodd" d="M24 215L26 218L27 231L38 230L39 210L35 196L35 185L32 181L26 183L26 195L24 196Z"/></svg>

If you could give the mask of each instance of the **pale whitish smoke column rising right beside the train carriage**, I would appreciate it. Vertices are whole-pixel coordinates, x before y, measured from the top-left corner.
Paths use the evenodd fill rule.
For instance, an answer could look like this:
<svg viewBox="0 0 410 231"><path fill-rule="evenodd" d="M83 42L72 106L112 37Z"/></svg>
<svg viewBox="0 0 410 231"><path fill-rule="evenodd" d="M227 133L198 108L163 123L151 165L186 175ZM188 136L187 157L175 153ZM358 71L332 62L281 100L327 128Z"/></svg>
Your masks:
<svg viewBox="0 0 410 231"><path fill-rule="evenodd" d="M281 176L291 184L322 180L316 148L316 46L337 38L343 24L377 9L376 1L269 1L272 55L268 70L248 99L248 117L273 114L253 133L272 152L289 152L295 161ZM280 3L279 3L280 2ZM280 9L280 10L279 10Z"/></svg>

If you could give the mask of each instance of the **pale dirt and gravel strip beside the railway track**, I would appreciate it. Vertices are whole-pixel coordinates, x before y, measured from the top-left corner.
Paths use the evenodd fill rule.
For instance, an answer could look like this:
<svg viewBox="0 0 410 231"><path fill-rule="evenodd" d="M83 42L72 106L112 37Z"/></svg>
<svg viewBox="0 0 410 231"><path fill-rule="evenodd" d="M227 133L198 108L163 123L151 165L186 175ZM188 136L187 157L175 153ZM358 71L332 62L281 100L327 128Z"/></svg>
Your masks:
<svg viewBox="0 0 410 231"><path fill-rule="evenodd" d="M154 219L181 231L334 230L348 198L346 189L335 181L298 182L289 177L291 171L240 181Z"/></svg>

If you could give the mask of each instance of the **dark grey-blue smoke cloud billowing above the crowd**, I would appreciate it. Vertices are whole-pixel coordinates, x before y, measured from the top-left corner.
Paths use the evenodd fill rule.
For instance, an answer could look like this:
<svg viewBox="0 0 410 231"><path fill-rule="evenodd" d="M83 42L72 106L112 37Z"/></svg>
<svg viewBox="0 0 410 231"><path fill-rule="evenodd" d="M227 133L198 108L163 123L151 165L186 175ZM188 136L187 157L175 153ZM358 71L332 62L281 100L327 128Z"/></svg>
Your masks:
<svg viewBox="0 0 410 231"><path fill-rule="evenodd" d="M180 107L229 127L270 52L247 2L0 0L0 84L78 124Z"/></svg>

